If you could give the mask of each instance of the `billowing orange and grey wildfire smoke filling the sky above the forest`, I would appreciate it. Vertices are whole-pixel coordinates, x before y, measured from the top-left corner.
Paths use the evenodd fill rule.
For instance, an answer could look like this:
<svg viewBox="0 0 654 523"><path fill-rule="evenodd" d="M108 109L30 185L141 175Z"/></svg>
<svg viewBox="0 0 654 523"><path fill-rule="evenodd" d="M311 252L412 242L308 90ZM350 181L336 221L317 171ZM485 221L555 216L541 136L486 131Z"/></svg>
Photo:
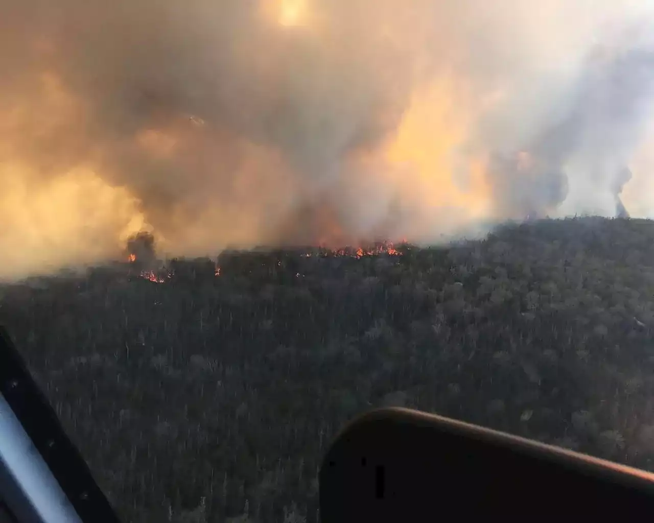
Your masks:
<svg viewBox="0 0 654 523"><path fill-rule="evenodd" d="M654 214L647 2L0 12L0 278L120 256L138 231L191 256Z"/></svg>

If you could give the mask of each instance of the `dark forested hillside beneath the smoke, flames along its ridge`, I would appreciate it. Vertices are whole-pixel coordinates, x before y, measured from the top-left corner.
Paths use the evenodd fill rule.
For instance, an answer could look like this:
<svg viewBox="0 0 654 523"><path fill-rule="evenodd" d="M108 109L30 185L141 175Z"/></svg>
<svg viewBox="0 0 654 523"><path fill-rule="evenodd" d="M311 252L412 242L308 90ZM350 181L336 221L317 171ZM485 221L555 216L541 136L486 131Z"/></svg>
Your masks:
<svg viewBox="0 0 654 523"><path fill-rule="evenodd" d="M0 287L0 323L126 522L316 522L377 405L654 469L653 222L395 249L137 258Z"/></svg>

